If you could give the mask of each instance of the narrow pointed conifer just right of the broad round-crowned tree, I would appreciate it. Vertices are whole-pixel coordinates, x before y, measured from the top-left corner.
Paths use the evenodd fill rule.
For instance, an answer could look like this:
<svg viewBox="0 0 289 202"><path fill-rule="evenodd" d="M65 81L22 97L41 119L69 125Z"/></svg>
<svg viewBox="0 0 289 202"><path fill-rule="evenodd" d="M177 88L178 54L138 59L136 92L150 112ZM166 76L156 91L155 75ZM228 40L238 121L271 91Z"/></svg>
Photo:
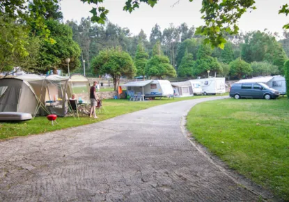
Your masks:
<svg viewBox="0 0 289 202"><path fill-rule="evenodd" d="M136 49L136 56L134 57L134 65L136 66L136 76L143 76L143 80L146 76L146 63L148 63L148 53L145 51L143 42L140 39Z"/></svg>

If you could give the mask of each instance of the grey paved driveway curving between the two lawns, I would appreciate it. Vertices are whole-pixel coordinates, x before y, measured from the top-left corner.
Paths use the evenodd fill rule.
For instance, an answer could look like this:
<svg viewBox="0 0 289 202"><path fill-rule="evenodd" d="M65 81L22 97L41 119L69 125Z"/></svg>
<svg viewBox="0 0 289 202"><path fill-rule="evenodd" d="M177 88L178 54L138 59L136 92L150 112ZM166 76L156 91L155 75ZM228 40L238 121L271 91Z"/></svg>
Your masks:
<svg viewBox="0 0 289 202"><path fill-rule="evenodd" d="M194 104L216 99L0 142L0 201L258 201L181 130Z"/></svg>

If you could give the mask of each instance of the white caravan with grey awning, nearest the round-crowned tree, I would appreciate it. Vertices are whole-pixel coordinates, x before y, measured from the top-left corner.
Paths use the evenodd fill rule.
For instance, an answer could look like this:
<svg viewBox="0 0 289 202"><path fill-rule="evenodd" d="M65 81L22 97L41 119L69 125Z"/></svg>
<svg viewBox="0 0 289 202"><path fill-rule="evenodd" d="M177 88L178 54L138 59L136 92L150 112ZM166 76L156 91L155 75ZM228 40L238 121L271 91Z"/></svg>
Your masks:
<svg viewBox="0 0 289 202"><path fill-rule="evenodd" d="M168 80L132 81L120 86L127 88L127 94L139 92L143 98L162 98L173 95L173 87Z"/></svg>

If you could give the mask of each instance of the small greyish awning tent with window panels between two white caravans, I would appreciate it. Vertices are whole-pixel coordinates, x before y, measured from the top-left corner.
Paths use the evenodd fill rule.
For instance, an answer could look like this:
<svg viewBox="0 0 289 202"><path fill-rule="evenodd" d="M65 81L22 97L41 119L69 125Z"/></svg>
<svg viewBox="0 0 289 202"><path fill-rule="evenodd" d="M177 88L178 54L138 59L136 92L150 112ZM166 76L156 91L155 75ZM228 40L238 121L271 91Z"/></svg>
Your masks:
<svg viewBox="0 0 289 202"><path fill-rule="evenodd" d="M175 97L194 96L193 86L189 81L171 82Z"/></svg>

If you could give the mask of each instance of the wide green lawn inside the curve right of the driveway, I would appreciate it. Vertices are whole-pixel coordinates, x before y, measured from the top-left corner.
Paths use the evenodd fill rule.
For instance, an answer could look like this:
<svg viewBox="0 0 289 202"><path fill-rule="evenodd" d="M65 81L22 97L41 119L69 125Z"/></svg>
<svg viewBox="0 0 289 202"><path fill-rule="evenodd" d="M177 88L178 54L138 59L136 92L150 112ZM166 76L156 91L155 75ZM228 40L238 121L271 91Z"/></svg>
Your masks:
<svg viewBox="0 0 289 202"><path fill-rule="evenodd" d="M232 169L289 201L289 100L217 100L196 105L187 128Z"/></svg>

